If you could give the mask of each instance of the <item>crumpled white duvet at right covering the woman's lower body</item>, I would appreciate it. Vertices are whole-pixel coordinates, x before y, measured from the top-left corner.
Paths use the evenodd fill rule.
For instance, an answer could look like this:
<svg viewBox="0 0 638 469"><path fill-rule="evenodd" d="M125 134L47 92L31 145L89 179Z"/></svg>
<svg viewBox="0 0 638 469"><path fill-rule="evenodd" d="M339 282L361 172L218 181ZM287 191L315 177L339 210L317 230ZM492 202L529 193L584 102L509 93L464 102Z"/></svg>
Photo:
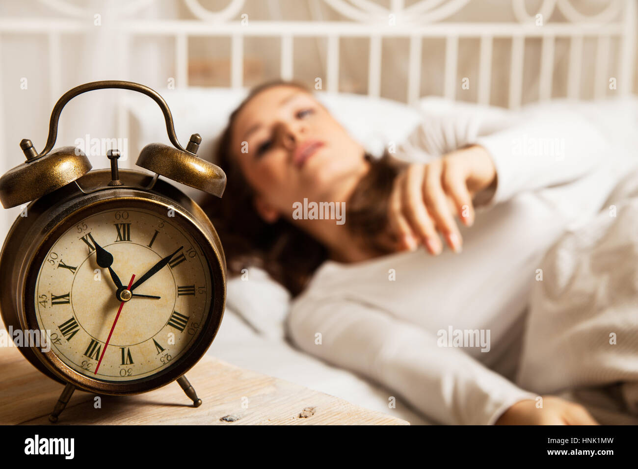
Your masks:
<svg viewBox="0 0 638 469"><path fill-rule="evenodd" d="M545 255L517 384L638 417L638 172ZM598 412L602 423L627 419Z"/></svg>

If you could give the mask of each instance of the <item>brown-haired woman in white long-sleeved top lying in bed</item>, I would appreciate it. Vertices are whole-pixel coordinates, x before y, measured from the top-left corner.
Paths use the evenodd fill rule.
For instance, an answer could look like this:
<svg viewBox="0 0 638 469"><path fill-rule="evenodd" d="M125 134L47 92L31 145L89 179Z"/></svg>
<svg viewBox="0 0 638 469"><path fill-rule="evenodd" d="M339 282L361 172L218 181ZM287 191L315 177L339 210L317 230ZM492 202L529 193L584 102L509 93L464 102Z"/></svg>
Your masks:
<svg viewBox="0 0 638 469"><path fill-rule="evenodd" d="M226 193L205 204L230 272L265 269L294 297L295 345L433 421L596 424L514 380L538 262L618 174L586 119L528 114L425 116L374 158L303 86L253 89L219 141Z"/></svg>

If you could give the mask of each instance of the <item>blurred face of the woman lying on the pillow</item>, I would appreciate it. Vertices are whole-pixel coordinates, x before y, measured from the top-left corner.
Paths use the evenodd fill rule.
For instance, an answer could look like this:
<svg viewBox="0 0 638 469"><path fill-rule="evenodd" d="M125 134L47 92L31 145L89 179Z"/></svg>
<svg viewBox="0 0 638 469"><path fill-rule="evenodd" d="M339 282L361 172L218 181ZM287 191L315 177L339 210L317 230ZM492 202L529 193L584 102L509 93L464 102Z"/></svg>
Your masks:
<svg viewBox="0 0 638 469"><path fill-rule="evenodd" d="M290 219L294 202L345 201L369 168L363 147L312 94L273 86L235 117L231 153L266 221Z"/></svg>

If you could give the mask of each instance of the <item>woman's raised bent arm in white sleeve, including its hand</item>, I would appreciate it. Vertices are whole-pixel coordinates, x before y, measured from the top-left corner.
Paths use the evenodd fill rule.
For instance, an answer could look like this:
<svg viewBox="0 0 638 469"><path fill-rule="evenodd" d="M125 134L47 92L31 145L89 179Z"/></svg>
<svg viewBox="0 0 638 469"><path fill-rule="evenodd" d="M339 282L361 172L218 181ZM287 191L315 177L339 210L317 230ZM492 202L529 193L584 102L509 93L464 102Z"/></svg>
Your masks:
<svg viewBox="0 0 638 469"><path fill-rule="evenodd" d="M443 248L440 232L459 252L455 217L470 226L475 204L575 181L597 167L604 152L598 130L564 110L528 112L507 122L480 115L426 118L399 149L403 158L427 162L413 163L397 177L390 229L399 249L424 244L436 255Z"/></svg>

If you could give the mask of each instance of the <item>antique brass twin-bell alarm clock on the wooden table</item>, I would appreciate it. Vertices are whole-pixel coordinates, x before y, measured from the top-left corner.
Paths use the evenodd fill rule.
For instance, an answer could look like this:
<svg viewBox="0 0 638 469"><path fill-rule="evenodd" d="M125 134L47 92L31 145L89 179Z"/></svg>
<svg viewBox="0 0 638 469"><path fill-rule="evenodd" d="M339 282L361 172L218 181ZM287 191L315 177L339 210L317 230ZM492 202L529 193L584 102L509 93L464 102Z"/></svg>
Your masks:
<svg viewBox="0 0 638 469"><path fill-rule="evenodd" d="M110 170L93 171L75 147L52 151L64 105L105 88L144 93L161 108L174 146L149 144L137 160L154 175L119 170L115 149L107 154ZM38 154L22 140L26 161L0 178L5 208L32 201L0 254L0 311L7 329L41 331L50 345L20 346L31 364L66 383L50 421L75 389L138 394L177 380L201 404L184 373L219 329L225 258L202 209L159 179L221 197L226 176L198 158L200 142L195 134L181 147L167 103L151 88L92 82L57 101L45 149Z"/></svg>

